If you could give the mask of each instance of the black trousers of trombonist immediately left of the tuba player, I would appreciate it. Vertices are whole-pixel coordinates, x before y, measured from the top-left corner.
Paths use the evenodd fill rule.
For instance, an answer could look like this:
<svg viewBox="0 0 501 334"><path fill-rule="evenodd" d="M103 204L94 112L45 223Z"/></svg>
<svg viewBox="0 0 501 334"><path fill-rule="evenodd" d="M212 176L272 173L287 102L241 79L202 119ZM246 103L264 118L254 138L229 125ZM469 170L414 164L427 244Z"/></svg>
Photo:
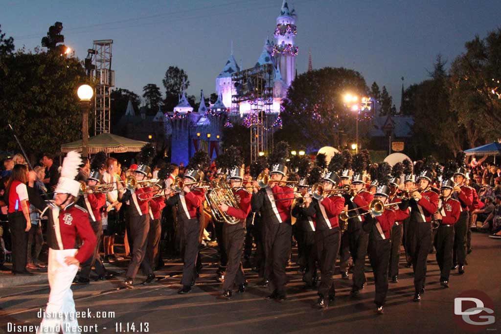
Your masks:
<svg viewBox="0 0 501 334"><path fill-rule="evenodd" d="M200 234L200 222L197 218L183 220L184 237L184 263L183 278L181 284L190 285L196 278L196 260L198 258L198 236Z"/></svg>

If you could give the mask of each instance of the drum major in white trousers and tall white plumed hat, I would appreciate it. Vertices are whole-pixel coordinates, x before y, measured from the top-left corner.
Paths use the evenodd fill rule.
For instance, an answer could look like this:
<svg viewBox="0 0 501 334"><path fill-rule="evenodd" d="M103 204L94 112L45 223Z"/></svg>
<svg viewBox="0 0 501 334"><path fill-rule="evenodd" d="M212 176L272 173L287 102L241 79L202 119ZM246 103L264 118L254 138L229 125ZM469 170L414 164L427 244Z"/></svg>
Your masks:
<svg viewBox="0 0 501 334"><path fill-rule="evenodd" d="M75 204L80 182L74 178L81 163L80 154L69 152L63 161L55 200L48 209L47 244L49 246L49 302L39 332L58 333L67 326L78 328L71 283L80 263L84 263L96 247L96 236L89 223L89 213ZM83 241L75 249L76 238ZM65 316L66 314L67 316ZM69 314L69 315L68 315Z"/></svg>

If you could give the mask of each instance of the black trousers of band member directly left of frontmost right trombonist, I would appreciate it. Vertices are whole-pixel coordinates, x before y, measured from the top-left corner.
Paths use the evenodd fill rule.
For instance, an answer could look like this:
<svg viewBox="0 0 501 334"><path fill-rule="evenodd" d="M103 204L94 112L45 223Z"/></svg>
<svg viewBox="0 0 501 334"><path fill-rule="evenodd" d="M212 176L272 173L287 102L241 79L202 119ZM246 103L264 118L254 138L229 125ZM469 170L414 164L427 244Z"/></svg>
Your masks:
<svg viewBox="0 0 501 334"><path fill-rule="evenodd" d="M367 255L367 244L369 233L362 228L348 232L350 242L350 253L353 258L353 288L361 289L366 282L365 278L365 255Z"/></svg>

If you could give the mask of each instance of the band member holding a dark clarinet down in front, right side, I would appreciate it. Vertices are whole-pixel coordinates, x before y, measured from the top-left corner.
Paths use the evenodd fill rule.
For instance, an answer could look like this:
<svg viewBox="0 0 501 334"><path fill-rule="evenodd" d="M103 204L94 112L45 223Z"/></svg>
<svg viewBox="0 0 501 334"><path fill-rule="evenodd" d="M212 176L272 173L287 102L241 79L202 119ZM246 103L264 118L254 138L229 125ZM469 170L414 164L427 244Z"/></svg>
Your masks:
<svg viewBox="0 0 501 334"><path fill-rule="evenodd" d="M434 239L436 259L440 267L440 284L449 287L449 273L452 265L452 247L454 244L454 224L459 219L461 204L452 198L454 182L445 180L440 187L438 210L433 215L440 225Z"/></svg>

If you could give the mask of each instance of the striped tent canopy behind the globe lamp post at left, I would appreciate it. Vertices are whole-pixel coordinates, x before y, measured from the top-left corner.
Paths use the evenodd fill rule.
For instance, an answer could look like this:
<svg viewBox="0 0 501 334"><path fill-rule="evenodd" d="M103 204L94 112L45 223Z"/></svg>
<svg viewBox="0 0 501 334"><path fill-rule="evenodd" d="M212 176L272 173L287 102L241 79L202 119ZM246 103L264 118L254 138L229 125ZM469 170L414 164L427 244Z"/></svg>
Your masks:
<svg viewBox="0 0 501 334"><path fill-rule="evenodd" d="M141 151L141 147L146 144L147 143L143 141L129 139L111 133L102 133L89 138L87 150L89 154L96 154L100 151L106 153L139 152ZM61 145L61 152L68 153L70 151L82 152L82 140Z"/></svg>

